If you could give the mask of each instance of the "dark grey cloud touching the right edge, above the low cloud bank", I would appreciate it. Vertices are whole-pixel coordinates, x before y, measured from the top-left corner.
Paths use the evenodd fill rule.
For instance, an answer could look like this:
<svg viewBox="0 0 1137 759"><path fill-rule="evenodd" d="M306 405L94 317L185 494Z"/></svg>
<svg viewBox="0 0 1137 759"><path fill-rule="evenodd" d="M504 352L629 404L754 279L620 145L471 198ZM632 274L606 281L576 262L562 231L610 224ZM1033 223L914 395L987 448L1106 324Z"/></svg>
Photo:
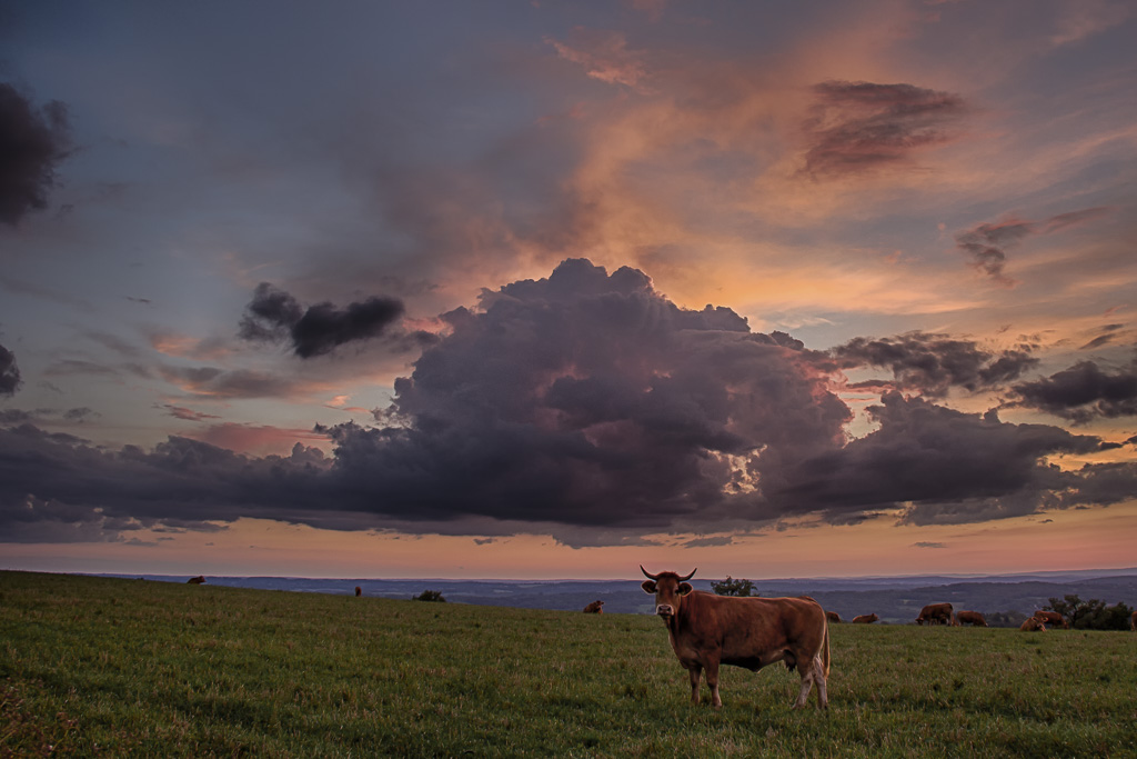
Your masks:
<svg viewBox="0 0 1137 759"><path fill-rule="evenodd" d="M1094 419L1137 415L1137 366L1106 371L1082 361L1049 377L1020 382L1007 404L1037 409L1082 424Z"/></svg>

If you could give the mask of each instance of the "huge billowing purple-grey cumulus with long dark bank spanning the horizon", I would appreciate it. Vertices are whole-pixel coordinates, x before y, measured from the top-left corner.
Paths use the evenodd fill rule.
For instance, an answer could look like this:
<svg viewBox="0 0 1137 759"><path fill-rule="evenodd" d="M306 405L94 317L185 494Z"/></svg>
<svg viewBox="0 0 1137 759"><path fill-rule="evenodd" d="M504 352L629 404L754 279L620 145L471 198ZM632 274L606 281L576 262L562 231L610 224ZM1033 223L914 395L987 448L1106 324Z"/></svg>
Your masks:
<svg viewBox="0 0 1137 759"><path fill-rule="evenodd" d="M984 521L1113 503L1132 487L1131 467L1047 463L1102 449L1097 437L898 391L869 410L873 432L848 440L853 414L835 393L832 355L750 332L729 308L680 308L633 269L566 261L445 320L450 331L396 382L375 426L317 427L331 457L302 445L255 457L181 437L110 451L31 424L0 430L0 528L31 529L41 513L52 525L123 529L260 517L630 545L654 531L706 536L805 514ZM969 356L913 374L907 353L882 362L913 385L1021 371L1021 356L995 370L1001 356L974 346L906 338L891 347ZM862 361L863 347L849 356ZM215 391L217 371L183 379Z"/></svg>

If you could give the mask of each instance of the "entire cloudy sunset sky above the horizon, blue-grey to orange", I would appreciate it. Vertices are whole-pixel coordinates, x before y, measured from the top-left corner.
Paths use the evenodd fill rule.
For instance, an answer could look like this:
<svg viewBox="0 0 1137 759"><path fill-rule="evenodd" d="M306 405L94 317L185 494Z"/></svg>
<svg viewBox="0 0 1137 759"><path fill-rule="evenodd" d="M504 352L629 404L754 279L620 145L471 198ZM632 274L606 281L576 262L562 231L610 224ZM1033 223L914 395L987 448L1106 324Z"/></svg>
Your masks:
<svg viewBox="0 0 1137 759"><path fill-rule="evenodd" d="M0 568L1131 567L1134 39L0 0Z"/></svg>

